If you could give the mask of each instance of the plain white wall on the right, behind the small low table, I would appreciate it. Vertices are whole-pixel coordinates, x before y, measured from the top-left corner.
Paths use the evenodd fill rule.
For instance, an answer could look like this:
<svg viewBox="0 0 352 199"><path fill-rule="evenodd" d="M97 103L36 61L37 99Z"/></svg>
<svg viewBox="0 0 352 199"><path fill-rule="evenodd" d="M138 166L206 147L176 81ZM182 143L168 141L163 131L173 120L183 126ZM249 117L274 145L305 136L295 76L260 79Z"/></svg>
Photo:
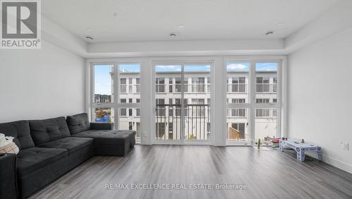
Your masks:
<svg viewBox="0 0 352 199"><path fill-rule="evenodd" d="M321 145L325 162L352 173L351 64L352 28L289 55L288 135Z"/></svg>

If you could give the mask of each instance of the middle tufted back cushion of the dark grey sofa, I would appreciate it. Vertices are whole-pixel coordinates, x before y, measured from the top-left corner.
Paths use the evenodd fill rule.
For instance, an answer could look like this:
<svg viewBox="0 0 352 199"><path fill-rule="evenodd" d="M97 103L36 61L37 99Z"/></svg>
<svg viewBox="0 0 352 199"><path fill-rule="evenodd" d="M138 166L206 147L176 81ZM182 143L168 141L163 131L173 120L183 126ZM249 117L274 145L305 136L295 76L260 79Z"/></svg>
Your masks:
<svg viewBox="0 0 352 199"><path fill-rule="evenodd" d="M65 117L61 116L52 119L31 120L30 134L35 145L40 145L70 136L70 130Z"/></svg>

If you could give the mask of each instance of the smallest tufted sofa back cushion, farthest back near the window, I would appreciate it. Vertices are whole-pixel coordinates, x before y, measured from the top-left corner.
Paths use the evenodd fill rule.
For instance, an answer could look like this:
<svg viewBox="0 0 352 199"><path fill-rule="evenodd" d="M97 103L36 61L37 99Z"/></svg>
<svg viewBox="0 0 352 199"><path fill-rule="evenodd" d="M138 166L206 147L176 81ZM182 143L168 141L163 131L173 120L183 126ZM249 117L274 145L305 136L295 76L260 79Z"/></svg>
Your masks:
<svg viewBox="0 0 352 199"><path fill-rule="evenodd" d="M90 122L87 113L67 116L66 121L68 123L68 128L70 128L71 135L90 129Z"/></svg>

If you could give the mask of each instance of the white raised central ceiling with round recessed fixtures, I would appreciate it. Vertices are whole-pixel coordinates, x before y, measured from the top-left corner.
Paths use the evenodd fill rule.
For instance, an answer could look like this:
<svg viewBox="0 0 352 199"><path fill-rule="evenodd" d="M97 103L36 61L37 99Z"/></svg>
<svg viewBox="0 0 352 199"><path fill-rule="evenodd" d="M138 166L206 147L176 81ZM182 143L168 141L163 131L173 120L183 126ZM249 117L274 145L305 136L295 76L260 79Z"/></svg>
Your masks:
<svg viewBox="0 0 352 199"><path fill-rule="evenodd" d="M82 39L92 35L93 42L281 39L339 1L45 0L42 13ZM265 36L268 30L275 34Z"/></svg>

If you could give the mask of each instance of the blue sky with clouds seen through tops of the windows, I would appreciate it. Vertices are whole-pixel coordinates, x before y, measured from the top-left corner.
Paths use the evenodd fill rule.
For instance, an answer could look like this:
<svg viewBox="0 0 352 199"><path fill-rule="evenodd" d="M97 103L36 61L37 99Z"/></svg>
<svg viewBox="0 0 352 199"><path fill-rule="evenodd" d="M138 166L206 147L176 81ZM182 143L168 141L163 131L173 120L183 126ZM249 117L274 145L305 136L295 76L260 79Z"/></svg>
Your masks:
<svg viewBox="0 0 352 199"><path fill-rule="evenodd" d="M249 71L249 62L227 62L227 71ZM111 67L113 65L95 65L95 93L111 95ZM120 72L140 72L139 64L120 64ZM182 71L180 65L156 66L156 71ZM209 65L185 65L184 71L210 71ZM256 63L256 71L277 71L277 63Z"/></svg>

